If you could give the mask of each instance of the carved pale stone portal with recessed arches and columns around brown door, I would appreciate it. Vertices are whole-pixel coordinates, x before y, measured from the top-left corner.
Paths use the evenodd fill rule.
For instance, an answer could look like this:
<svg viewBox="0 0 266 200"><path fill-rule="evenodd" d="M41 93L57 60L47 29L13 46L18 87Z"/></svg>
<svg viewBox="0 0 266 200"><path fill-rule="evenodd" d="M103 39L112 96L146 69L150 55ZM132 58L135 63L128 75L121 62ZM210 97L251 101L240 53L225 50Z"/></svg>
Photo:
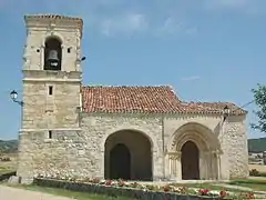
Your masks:
<svg viewBox="0 0 266 200"><path fill-rule="evenodd" d="M190 122L178 128L167 146L172 179L219 179L218 139L207 127Z"/></svg>

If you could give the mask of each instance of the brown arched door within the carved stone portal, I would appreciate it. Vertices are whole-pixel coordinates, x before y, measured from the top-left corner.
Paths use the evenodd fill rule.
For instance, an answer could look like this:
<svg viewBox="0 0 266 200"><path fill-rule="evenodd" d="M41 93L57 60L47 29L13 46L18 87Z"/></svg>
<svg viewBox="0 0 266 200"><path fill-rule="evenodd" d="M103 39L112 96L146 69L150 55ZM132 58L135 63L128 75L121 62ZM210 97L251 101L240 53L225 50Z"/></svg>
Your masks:
<svg viewBox="0 0 266 200"><path fill-rule="evenodd" d="M182 147L182 179L198 180L200 179L200 152L196 144L187 141Z"/></svg>

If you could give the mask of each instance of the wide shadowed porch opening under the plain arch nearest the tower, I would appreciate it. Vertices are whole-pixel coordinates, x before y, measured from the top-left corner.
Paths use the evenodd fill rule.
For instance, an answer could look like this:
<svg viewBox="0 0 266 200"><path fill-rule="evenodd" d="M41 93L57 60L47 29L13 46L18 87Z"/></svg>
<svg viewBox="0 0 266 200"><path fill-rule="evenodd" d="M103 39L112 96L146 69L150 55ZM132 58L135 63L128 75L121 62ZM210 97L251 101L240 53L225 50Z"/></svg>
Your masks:
<svg viewBox="0 0 266 200"><path fill-rule="evenodd" d="M152 143L144 133L120 130L104 144L104 178L152 180Z"/></svg>

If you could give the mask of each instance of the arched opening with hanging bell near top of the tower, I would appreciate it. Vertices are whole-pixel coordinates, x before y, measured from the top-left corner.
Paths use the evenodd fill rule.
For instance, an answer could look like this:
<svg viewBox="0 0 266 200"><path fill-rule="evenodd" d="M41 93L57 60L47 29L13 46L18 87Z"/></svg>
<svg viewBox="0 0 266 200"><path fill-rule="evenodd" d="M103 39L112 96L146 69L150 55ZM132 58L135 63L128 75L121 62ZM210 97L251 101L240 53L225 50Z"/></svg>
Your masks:
<svg viewBox="0 0 266 200"><path fill-rule="evenodd" d="M62 64L62 42L55 38L48 38L44 48L44 70L60 71Z"/></svg>

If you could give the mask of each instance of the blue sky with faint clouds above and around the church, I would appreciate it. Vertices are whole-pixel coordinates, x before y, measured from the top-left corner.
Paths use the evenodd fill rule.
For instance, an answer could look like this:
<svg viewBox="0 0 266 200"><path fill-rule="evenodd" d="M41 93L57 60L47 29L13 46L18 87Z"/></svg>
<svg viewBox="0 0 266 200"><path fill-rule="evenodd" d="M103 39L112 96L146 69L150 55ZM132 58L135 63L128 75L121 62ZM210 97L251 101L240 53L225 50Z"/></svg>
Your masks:
<svg viewBox="0 0 266 200"><path fill-rule="evenodd" d="M85 84L172 84L184 100L243 106L265 83L265 0L1 0L0 139L20 128L9 92L21 92L23 14L47 12L84 19Z"/></svg>

